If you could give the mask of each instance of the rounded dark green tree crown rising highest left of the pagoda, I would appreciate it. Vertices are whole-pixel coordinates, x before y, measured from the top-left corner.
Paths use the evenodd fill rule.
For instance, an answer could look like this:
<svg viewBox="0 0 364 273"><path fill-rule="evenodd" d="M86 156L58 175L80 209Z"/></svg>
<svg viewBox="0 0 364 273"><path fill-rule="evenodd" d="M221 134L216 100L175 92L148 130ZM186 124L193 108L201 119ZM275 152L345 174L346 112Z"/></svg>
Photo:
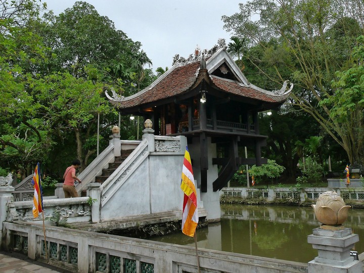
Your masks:
<svg viewBox="0 0 364 273"><path fill-rule="evenodd" d="M91 64L107 74L114 63L130 66L130 56L141 46L86 2L76 2L58 16L49 12L43 18L35 30L57 55L49 67L52 71L66 69L76 77L87 77L84 67Z"/></svg>

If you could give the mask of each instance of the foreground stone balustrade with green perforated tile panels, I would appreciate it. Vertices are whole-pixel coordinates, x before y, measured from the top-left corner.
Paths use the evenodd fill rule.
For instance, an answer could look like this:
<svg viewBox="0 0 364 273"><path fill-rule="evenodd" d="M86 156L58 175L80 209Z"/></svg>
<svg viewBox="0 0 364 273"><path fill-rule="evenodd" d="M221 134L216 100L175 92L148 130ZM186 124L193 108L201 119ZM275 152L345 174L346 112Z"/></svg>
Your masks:
<svg viewBox="0 0 364 273"><path fill-rule="evenodd" d="M4 222L3 248L71 272L197 272L194 247L46 226ZM201 272L307 272L306 263L203 249ZM267 269L268 268L268 269Z"/></svg>

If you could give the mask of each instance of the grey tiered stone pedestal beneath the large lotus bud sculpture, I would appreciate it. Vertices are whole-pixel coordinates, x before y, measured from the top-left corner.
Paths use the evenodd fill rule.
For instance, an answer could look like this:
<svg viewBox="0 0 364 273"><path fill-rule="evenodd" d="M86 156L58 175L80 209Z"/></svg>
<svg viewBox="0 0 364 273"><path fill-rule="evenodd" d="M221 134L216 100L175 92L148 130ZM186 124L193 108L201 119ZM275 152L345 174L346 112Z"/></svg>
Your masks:
<svg viewBox="0 0 364 273"><path fill-rule="evenodd" d="M319 252L319 256L308 262L309 273L362 272L361 262L350 256L350 249L359 241L359 236L352 234L351 229L333 231L317 228L308 235L307 241Z"/></svg>

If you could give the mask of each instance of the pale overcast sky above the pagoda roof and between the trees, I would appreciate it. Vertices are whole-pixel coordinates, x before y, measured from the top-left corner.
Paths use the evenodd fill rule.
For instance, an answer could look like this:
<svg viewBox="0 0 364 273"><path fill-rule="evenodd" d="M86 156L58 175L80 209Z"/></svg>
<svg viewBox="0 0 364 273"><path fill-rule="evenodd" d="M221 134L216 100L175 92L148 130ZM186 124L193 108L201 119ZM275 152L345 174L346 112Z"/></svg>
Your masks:
<svg viewBox="0 0 364 273"><path fill-rule="evenodd" d="M56 15L71 8L76 1L43 0ZM195 52L211 49L218 38L230 42L231 33L222 29L222 15L239 12L242 0L89 0L102 16L115 23L142 49L157 67L172 66L175 54L187 58Z"/></svg>

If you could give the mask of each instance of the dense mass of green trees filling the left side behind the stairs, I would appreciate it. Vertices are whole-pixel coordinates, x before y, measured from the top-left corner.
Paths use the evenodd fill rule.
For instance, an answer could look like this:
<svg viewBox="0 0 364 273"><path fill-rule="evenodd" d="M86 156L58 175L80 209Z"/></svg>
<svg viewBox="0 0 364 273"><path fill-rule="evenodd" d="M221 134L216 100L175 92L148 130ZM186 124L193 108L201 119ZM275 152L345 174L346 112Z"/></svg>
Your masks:
<svg viewBox="0 0 364 273"><path fill-rule="evenodd" d="M74 158L86 166L96 156L98 115L101 148L108 143L108 129L117 124L104 91L136 92L137 83L143 84L137 72L151 81L149 71L132 68L141 52L148 56L140 42L85 2L43 18L35 1L2 4L0 167L20 170L24 177L37 161L52 172ZM130 121L123 117L121 122L128 139Z"/></svg>

